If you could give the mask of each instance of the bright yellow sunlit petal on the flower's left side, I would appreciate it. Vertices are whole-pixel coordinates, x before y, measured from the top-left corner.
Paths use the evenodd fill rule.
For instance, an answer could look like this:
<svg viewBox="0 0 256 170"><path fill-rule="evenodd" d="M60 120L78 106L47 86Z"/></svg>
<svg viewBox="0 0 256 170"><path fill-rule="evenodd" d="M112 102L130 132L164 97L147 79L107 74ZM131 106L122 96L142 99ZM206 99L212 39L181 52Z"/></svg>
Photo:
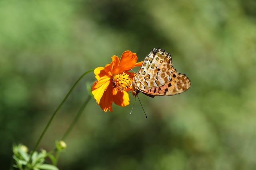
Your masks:
<svg viewBox="0 0 256 170"><path fill-rule="evenodd" d="M102 96L104 95L105 90L110 86L110 79L109 81L105 82L101 86L98 86L98 88L95 88L99 82L95 82L92 85L92 94L94 98L96 99L96 102L99 104ZM110 86L112 88L112 86Z"/></svg>

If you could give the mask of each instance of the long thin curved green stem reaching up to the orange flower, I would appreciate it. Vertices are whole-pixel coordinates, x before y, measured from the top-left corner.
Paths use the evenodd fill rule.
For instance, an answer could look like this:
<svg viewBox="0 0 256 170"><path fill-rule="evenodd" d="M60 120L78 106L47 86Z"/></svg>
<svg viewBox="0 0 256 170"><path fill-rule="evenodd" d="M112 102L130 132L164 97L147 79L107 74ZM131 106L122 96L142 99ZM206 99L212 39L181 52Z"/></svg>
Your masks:
<svg viewBox="0 0 256 170"><path fill-rule="evenodd" d="M50 118L50 120L48 121L46 127L44 128L44 131L42 132L41 136L39 137L36 146L34 147L31 155L30 155L30 159L28 161L28 163L31 162L32 159L32 155L33 153L38 149L38 145L40 144L42 138L44 137L44 134L46 133L48 127L50 126L50 124L52 123L52 120L54 119L56 113L59 111L59 109L62 107L62 105L64 104L64 102L67 100L68 96L71 94L71 92L74 90L76 84L78 84L78 82L89 72L92 72L94 69L92 70L88 70L87 72L85 72L84 74L82 74L82 76L80 76L80 78L75 82L75 84L72 86L72 88L69 90L68 94L65 96L65 98L62 100L62 102L60 103L60 105L58 106L58 108L54 111L54 113L52 114L52 117Z"/></svg>

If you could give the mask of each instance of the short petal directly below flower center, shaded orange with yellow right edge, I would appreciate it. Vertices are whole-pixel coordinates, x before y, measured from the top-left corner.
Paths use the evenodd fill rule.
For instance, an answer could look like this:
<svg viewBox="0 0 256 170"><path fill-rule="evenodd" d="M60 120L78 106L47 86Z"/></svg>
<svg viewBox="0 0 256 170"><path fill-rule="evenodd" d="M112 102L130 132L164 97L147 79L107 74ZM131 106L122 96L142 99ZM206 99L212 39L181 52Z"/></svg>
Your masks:
<svg viewBox="0 0 256 170"><path fill-rule="evenodd" d="M113 101L118 106L127 106L130 101L129 94L126 91L117 91L116 89L113 90Z"/></svg>

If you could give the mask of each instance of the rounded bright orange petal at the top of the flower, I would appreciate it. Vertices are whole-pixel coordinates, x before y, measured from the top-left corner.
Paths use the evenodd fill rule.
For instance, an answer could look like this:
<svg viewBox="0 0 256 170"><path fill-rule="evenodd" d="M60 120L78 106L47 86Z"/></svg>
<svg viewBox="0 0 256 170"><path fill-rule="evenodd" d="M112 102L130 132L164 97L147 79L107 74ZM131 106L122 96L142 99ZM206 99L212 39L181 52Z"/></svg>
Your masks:
<svg viewBox="0 0 256 170"><path fill-rule="evenodd" d="M136 64L138 57L136 53L132 53L132 51L124 51L122 54L118 68L116 69L116 73L122 74L123 71L130 70Z"/></svg>

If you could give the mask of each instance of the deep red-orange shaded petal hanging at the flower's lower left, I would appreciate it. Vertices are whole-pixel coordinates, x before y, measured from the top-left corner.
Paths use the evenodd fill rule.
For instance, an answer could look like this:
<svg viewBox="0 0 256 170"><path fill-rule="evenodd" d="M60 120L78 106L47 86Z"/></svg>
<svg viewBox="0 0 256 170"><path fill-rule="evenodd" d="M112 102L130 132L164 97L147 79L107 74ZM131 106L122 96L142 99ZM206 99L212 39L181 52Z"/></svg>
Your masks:
<svg viewBox="0 0 256 170"><path fill-rule="evenodd" d="M107 112L108 109L109 111L113 111L112 110L112 103L113 103L113 99L112 99L112 90L113 87L112 86L108 86L105 90L105 92L103 93L103 96L100 99L100 107L103 111Z"/></svg>

